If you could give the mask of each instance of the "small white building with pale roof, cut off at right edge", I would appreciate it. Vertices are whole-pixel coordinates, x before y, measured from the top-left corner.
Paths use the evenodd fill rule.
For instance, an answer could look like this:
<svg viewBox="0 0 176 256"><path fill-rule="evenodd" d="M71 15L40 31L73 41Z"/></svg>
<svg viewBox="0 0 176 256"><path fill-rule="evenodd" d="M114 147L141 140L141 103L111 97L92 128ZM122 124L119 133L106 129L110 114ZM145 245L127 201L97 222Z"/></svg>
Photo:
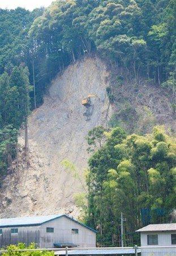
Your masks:
<svg viewBox="0 0 176 256"><path fill-rule="evenodd" d="M151 224L136 232L140 232L141 247L145 247L141 256L176 256L176 223Z"/></svg>

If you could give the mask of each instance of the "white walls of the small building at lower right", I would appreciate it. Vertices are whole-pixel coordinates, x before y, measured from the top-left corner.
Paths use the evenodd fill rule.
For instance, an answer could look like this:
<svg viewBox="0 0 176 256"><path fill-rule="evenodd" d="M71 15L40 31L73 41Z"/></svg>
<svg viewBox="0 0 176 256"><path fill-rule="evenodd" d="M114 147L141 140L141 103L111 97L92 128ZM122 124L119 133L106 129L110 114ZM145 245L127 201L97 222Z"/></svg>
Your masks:
<svg viewBox="0 0 176 256"><path fill-rule="evenodd" d="M158 234L158 245L147 244L148 234ZM171 234L176 234L176 232L141 232L141 246L148 247L141 249L141 256L175 256L176 247L171 244ZM170 246L170 248L152 248L153 246Z"/></svg>

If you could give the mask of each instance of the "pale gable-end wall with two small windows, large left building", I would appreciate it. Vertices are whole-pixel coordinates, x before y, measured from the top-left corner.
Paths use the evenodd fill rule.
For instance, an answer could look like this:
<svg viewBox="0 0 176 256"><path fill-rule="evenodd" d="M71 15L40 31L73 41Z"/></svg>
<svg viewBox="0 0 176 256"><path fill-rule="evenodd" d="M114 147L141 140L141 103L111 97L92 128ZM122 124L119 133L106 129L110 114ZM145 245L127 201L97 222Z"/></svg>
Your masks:
<svg viewBox="0 0 176 256"><path fill-rule="evenodd" d="M54 233L46 233L46 228L54 228ZM79 229L79 233L72 234L71 229ZM41 225L40 247L52 248L55 242L74 243L79 247L96 247L96 233L63 216Z"/></svg>

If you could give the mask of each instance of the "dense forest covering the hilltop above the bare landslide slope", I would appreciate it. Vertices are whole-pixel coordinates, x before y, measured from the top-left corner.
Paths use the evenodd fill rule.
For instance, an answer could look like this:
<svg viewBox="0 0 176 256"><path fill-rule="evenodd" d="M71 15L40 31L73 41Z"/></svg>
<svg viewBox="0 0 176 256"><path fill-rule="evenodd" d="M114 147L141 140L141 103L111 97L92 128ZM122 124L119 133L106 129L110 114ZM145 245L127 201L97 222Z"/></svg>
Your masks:
<svg viewBox="0 0 176 256"><path fill-rule="evenodd" d="M125 68L128 77L138 81L145 76L153 84L174 92L175 9L174 0L61 0L46 10L31 13L21 8L1 9L0 72L5 74L0 90L6 90L3 83L7 74L11 76L15 66L25 65L33 85L31 108L36 108L46 86L59 71L81 55L97 51L112 65ZM15 157L14 143L8 140L5 127L11 125L10 130L14 129L16 121L9 119L7 112L17 109L17 122L25 122L25 118L19 117L24 109L15 87L14 80L0 99L1 173ZM27 97L29 90L23 93ZM10 97L16 100L11 101Z"/></svg>

